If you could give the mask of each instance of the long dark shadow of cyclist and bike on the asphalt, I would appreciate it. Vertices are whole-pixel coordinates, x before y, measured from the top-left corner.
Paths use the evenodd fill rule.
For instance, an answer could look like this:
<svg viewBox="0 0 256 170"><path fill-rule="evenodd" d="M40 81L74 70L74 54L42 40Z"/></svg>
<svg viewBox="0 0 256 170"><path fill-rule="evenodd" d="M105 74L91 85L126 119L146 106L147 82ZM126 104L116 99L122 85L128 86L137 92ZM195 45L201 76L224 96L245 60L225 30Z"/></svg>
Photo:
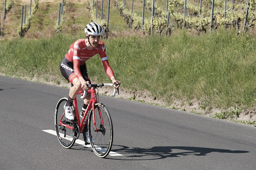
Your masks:
<svg viewBox="0 0 256 170"><path fill-rule="evenodd" d="M129 148L121 145L113 145L113 152L126 156L132 160L154 160L180 156L206 156L211 152L219 153L248 153L246 150L228 150L203 147L151 147L151 148ZM110 159L119 159L108 156ZM120 159L121 160L121 159ZM122 158L122 160L124 160Z"/></svg>

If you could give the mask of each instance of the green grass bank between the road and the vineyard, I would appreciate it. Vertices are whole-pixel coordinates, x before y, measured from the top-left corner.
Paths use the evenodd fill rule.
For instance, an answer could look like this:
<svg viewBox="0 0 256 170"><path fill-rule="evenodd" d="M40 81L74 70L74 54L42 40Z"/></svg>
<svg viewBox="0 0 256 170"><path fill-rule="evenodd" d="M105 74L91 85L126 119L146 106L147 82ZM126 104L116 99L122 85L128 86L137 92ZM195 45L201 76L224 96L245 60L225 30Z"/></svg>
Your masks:
<svg viewBox="0 0 256 170"><path fill-rule="evenodd" d="M232 31L193 36L110 38L104 43L108 61L124 88L149 90L172 103L204 99L202 107L253 108L256 102L254 37ZM50 39L1 41L1 72L16 77L55 75L69 45L84 37L55 35ZM109 82L100 57L87 62L90 77Z"/></svg>

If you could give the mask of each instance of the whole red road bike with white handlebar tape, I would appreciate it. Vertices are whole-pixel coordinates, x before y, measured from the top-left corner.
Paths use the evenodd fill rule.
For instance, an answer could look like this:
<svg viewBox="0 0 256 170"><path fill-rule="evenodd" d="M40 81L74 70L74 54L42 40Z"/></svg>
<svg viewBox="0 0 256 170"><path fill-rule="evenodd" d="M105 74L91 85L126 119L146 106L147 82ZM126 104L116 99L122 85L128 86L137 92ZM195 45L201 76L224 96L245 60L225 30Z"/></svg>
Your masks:
<svg viewBox="0 0 256 170"><path fill-rule="evenodd" d="M68 101L67 98L61 98L55 109L55 130L57 133L60 144L65 148L71 148L76 139L79 138L80 133L83 133L85 145L92 145L94 153L104 158L106 157L112 147L113 143L113 125L108 109L104 104L98 103L96 89L101 86L113 86L113 84L89 84L91 98L80 121L80 112L76 98L74 99L73 113L74 120L66 119L64 106ZM115 96L118 89L114 89L111 96ZM80 91L78 94L82 94L81 98L87 95L87 90ZM118 92L119 94L119 92ZM85 133L88 131L90 141L92 138L95 143L87 143Z"/></svg>

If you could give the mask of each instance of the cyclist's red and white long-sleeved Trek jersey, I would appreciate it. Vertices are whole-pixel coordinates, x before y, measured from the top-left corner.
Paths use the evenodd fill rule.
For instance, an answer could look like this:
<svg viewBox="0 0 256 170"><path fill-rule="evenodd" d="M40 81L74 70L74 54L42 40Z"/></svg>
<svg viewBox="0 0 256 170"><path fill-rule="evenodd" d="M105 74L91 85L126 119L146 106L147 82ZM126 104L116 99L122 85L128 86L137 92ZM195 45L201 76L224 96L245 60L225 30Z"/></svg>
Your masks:
<svg viewBox="0 0 256 170"><path fill-rule="evenodd" d="M87 48L85 41L86 39L78 39L76 42L70 45L69 51L65 55L68 61L74 64L74 72L76 74L76 77L79 78L82 76L79 66L83 65L87 60L89 60L92 56L96 54L100 55L105 72L109 76L109 78L114 76L114 72L108 63L108 57L104 43L102 41L99 41L98 46L90 50Z"/></svg>

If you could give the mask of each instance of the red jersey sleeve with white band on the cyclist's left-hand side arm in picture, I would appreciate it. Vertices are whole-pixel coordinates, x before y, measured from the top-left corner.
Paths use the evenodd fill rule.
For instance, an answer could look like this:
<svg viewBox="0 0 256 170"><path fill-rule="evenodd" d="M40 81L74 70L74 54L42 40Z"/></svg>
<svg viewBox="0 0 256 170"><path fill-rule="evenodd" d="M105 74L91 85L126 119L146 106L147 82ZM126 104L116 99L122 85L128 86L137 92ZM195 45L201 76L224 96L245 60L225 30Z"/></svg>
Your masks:
<svg viewBox="0 0 256 170"><path fill-rule="evenodd" d="M79 42L76 41L74 43L74 47L73 47L73 64L74 64L74 72L76 74L76 77L79 78L82 76L82 73L80 71L80 50L81 48L79 47Z"/></svg>

